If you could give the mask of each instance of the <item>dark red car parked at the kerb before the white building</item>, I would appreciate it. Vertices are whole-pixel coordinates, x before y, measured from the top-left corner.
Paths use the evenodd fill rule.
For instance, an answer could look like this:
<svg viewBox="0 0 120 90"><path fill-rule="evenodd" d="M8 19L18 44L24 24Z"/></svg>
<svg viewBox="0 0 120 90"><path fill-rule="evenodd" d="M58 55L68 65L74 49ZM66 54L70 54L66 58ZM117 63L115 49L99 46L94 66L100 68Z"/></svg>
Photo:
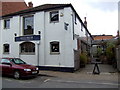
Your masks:
<svg viewBox="0 0 120 90"><path fill-rule="evenodd" d="M20 58L1 58L0 72L3 75L12 75L15 79L19 79L21 77L38 75L39 68L33 65L28 65Z"/></svg>

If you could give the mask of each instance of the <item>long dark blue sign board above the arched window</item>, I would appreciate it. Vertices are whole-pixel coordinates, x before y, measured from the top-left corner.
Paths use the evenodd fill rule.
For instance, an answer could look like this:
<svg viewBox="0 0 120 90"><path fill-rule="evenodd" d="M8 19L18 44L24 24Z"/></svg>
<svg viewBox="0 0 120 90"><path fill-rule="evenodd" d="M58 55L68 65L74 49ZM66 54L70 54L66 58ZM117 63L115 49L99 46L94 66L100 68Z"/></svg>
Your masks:
<svg viewBox="0 0 120 90"><path fill-rule="evenodd" d="M15 37L15 42L20 42L20 41L37 41L37 40L40 40L40 35L28 35L28 36Z"/></svg>

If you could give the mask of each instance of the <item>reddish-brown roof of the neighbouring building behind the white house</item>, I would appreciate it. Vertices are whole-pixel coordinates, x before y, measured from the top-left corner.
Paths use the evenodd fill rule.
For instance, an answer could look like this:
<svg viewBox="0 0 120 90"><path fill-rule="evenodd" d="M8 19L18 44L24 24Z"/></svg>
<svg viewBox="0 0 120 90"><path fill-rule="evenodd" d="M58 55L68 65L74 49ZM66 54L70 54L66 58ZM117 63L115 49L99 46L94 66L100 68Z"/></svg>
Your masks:
<svg viewBox="0 0 120 90"><path fill-rule="evenodd" d="M0 2L0 16L25 10L28 6L25 2Z"/></svg>

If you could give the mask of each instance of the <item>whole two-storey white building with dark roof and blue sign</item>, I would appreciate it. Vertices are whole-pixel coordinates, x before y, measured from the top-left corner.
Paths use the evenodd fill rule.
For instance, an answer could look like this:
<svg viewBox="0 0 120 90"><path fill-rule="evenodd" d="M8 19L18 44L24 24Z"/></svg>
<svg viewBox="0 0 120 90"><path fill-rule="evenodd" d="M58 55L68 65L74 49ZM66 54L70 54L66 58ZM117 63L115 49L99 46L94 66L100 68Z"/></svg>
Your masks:
<svg viewBox="0 0 120 90"><path fill-rule="evenodd" d="M18 57L41 69L79 69L92 35L71 4L44 4L3 15L0 57Z"/></svg>

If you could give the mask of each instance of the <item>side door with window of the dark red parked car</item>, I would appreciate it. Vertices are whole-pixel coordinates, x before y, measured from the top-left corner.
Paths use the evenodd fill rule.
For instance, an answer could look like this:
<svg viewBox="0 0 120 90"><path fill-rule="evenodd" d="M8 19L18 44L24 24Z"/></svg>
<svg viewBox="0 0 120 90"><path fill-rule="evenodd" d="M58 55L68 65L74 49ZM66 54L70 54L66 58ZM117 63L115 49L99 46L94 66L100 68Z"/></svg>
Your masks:
<svg viewBox="0 0 120 90"><path fill-rule="evenodd" d="M9 59L1 59L2 73L10 75L11 74L11 65Z"/></svg>

